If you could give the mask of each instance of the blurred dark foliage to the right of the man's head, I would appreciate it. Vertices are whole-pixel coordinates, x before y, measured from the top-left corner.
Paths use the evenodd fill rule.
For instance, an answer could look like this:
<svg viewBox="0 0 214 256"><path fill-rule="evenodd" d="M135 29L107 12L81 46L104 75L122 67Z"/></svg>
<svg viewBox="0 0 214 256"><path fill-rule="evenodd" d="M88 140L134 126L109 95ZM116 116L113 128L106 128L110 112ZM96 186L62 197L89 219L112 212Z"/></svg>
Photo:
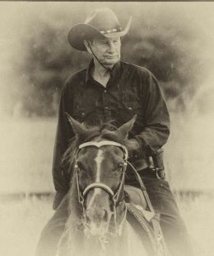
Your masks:
<svg viewBox="0 0 214 256"><path fill-rule="evenodd" d="M147 26L143 19L124 40L124 59L144 66L155 74L168 100L177 99L184 107L185 98L193 95L198 86L201 55L200 42L191 27L182 30L177 24ZM154 23L154 21L153 21ZM141 30L138 28L141 27ZM198 42L198 44L196 44Z"/></svg>

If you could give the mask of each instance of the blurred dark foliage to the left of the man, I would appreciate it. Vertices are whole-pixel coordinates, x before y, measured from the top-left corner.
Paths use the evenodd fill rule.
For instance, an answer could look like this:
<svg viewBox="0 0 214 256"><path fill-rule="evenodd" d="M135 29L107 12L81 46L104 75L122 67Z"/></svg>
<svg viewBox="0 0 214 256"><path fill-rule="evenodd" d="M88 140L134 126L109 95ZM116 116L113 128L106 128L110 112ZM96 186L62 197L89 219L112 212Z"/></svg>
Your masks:
<svg viewBox="0 0 214 256"><path fill-rule="evenodd" d="M67 45L67 31L63 28L43 24L35 31L26 42L27 55L21 66L30 86L22 102L28 115L53 116L60 88L70 73L83 68L86 55Z"/></svg>

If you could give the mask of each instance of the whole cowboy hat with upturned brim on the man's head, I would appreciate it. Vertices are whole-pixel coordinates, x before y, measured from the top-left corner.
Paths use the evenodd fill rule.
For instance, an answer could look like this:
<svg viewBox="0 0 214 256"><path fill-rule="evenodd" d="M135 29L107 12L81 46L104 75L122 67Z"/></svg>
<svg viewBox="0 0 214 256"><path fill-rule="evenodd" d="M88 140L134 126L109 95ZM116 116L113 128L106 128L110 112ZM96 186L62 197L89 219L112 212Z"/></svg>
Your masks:
<svg viewBox="0 0 214 256"><path fill-rule="evenodd" d="M95 36L121 37L127 34L131 17L124 29L119 25L118 17L109 8L95 9L85 23L77 24L68 33L68 41L77 50L86 50L83 40Z"/></svg>

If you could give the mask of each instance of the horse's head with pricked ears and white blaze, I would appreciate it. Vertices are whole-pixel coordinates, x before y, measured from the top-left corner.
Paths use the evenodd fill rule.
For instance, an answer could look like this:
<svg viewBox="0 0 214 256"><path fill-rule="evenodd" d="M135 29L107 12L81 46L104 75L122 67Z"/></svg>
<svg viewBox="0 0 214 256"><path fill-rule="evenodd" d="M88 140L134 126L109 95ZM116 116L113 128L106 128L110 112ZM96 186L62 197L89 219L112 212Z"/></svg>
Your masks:
<svg viewBox="0 0 214 256"><path fill-rule="evenodd" d="M135 117L118 130L100 132L87 129L71 116L68 120L77 140L82 141L75 156L75 171L86 232L103 236L119 216L124 216L123 182L128 158L124 145Z"/></svg>

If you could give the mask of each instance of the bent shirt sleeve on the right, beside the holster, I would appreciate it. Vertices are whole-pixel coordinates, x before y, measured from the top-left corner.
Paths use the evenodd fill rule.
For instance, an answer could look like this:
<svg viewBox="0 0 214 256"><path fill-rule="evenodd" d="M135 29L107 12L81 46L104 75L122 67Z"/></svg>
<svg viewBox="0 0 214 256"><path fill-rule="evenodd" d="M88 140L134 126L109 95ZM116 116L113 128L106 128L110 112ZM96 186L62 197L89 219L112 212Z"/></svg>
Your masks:
<svg viewBox="0 0 214 256"><path fill-rule="evenodd" d="M170 135L170 114L161 88L151 73L142 78L142 111L145 128L135 138L143 152L156 152Z"/></svg>

